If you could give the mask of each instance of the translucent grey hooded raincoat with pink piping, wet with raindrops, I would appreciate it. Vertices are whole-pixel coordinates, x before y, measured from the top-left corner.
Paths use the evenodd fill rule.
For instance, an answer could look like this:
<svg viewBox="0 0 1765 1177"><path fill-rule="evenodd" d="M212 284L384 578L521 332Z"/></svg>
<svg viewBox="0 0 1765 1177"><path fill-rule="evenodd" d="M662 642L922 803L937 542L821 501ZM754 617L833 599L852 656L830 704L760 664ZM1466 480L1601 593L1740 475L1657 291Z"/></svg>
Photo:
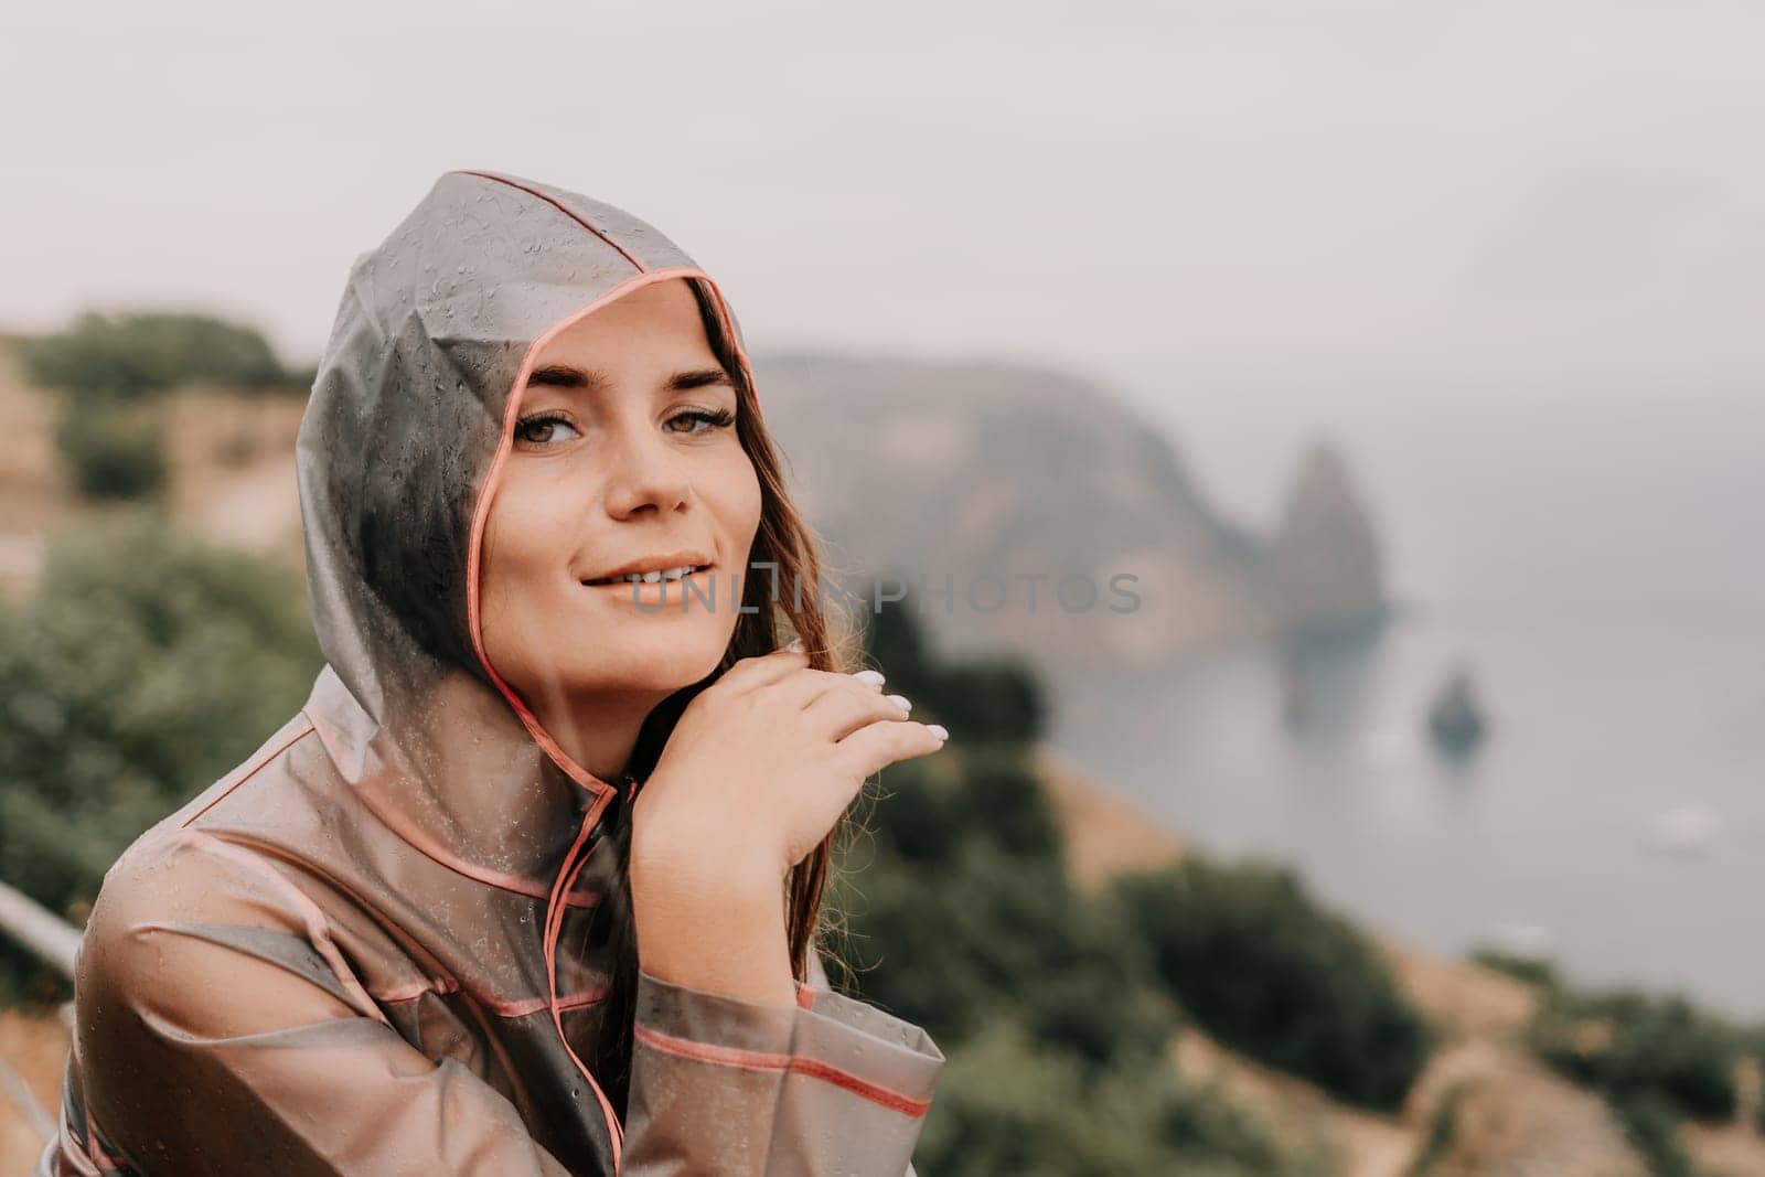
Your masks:
<svg viewBox="0 0 1765 1177"><path fill-rule="evenodd" d="M41 1173L911 1173L943 1053L814 951L794 1008L634 958L612 1008L641 773L582 769L482 656L515 390L676 277L752 379L715 282L572 192L448 173L357 259L298 443L327 665L106 873Z"/></svg>

